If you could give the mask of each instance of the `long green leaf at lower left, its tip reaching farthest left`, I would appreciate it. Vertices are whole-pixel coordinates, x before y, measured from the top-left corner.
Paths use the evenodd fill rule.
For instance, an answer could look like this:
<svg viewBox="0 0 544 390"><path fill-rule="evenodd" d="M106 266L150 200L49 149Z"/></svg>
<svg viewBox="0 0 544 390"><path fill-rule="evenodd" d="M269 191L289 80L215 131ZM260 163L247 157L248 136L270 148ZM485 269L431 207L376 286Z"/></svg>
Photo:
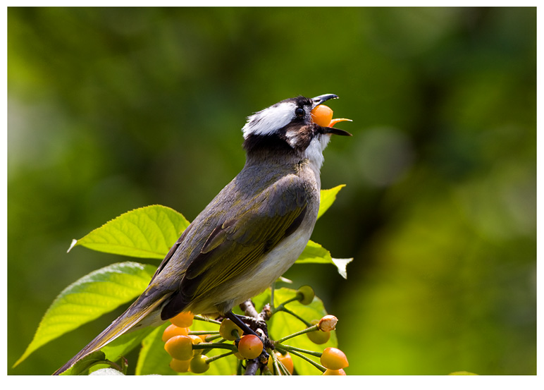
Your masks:
<svg viewBox="0 0 544 390"><path fill-rule="evenodd" d="M47 309L34 339L13 367L45 343L136 298L155 271L156 267L149 264L116 263L70 284Z"/></svg>

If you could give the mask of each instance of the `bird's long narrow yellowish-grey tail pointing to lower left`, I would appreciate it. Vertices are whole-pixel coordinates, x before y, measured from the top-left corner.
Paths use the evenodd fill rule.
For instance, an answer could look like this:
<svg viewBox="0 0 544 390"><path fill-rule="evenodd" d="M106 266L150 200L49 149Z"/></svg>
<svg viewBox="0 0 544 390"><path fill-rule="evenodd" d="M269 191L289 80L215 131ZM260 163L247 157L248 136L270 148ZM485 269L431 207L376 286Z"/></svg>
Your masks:
<svg viewBox="0 0 544 390"><path fill-rule="evenodd" d="M125 334L126 332L130 331L130 329L133 329L138 324L141 324L143 319L151 315L152 312L154 312L154 310L156 310L157 307L159 307L164 300L168 298L168 295L163 295L161 298L155 300L151 305L147 306L144 305L145 299L142 298L144 298L144 295L140 296L135 303L132 303L132 305L130 305L130 307L122 315L113 321L109 327L104 329L101 334L95 337L93 341L88 343L85 348L79 351L73 358L68 360L65 365L56 370L54 375L61 374L62 372L68 370L68 368L72 367L76 362L78 362L78 360L84 358L90 353L93 353L94 351L98 351L106 344L117 339L118 336ZM147 298L147 301L149 301L149 297ZM147 322L148 321L146 321L146 325ZM149 324L152 324L152 322L153 321L149 321Z"/></svg>

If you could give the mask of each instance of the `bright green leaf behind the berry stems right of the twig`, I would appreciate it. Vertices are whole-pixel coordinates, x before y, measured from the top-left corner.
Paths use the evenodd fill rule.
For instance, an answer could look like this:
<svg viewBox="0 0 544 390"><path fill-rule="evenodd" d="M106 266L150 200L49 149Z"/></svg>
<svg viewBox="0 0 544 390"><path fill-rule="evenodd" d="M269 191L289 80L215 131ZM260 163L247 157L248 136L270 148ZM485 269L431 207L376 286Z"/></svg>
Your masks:
<svg viewBox="0 0 544 390"><path fill-rule="evenodd" d="M276 306L280 303L285 302L290 298L293 298L297 295L297 291L292 288L278 288L274 291L274 303ZM260 311L262 305L270 302L270 289L266 290L264 293L257 295L253 298L253 302L256 305L257 311ZM311 322L312 319L321 319L324 315L327 315L325 307L323 306L323 301L317 297L314 297L314 300L309 305L302 305L298 301L294 301L285 305L289 310L295 312L300 317ZM297 331L302 331L306 329L304 322L293 317L292 315L285 312L276 312L268 321L268 334L273 340L282 339L285 336L294 334ZM297 348L303 348L309 351L319 351L323 352L325 348L336 347L338 348L338 340L336 338L336 331L330 332L330 339L324 344L314 344L308 339L306 334L296 336L292 339L288 339L283 342L283 344L288 346L294 346ZM319 363L319 358L315 356L307 355L309 358ZM293 364L297 374L301 375L319 375L321 372L316 369L309 362L299 358L298 356L291 355Z"/></svg>

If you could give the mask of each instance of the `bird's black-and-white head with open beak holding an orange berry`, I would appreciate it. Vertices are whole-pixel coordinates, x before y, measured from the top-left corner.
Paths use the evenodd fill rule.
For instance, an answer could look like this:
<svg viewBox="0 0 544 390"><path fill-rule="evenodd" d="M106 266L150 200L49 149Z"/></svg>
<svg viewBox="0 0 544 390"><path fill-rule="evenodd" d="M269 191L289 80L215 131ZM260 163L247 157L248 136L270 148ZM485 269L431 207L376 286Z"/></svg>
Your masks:
<svg viewBox="0 0 544 390"><path fill-rule="evenodd" d="M330 135L351 135L345 130L334 128L338 121L349 119L323 118L317 108L329 99L337 99L332 94L309 99L293 97L273 104L247 118L242 128L244 147L249 153L262 151L287 151L302 154L316 166L323 164L323 150ZM324 107L320 107L324 108Z"/></svg>

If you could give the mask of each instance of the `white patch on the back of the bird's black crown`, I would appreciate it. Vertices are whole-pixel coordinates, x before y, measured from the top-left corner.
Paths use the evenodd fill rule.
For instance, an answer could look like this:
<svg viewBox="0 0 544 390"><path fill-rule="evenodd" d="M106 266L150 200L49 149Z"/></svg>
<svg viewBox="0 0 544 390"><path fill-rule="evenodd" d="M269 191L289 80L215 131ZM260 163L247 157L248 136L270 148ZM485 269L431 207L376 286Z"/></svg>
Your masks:
<svg viewBox="0 0 544 390"><path fill-rule="evenodd" d="M242 128L244 139L249 135L269 135L287 126L295 116L295 103L282 103L257 112L247 118Z"/></svg>

